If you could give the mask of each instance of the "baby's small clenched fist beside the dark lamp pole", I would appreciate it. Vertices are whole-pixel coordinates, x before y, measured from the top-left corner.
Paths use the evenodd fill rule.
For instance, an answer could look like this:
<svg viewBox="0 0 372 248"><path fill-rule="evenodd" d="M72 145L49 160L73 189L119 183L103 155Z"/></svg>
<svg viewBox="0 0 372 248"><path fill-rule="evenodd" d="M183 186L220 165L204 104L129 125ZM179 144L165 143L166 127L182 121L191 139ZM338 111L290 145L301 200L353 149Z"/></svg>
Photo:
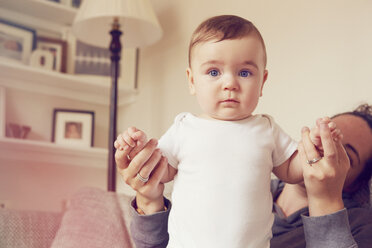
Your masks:
<svg viewBox="0 0 372 248"><path fill-rule="evenodd" d="M136 146L142 147L147 142L146 134L135 128L130 127L125 130L122 134L116 138L114 142L114 147L117 150L128 150L130 148L135 148Z"/></svg>

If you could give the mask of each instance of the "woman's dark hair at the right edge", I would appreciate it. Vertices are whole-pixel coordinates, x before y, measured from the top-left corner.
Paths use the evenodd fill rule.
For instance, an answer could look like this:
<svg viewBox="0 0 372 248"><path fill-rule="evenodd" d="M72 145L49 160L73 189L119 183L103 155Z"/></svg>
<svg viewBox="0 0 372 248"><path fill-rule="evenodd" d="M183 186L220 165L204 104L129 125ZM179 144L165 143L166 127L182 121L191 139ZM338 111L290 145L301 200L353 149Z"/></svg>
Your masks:
<svg viewBox="0 0 372 248"><path fill-rule="evenodd" d="M341 114L337 114L333 116L332 118L335 118L337 116L341 115L353 115L357 116L359 118L362 118L369 126L371 132L372 132L372 105L368 104L361 104L359 105L355 110L351 112L345 112ZM353 183L353 188L355 191L368 191L368 202L369 202L369 181L372 177L372 154L368 158L367 162L364 165L364 169L359 174L359 176L356 178L356 180Z"/></svg>

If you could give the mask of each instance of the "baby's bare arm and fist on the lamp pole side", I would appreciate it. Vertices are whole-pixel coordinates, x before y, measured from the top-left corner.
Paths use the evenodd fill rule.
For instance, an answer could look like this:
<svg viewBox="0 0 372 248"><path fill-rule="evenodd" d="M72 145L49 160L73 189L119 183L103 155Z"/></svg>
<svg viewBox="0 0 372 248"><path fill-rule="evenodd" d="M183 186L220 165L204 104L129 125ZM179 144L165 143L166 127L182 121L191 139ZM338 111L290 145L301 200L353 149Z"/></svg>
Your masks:
<svg viewBox="0 0 372 248"><path fill-rule="evenodd" d="M114 147L119 150L131 149L128 155L128 159L133 160L135 159L136 155L144 148L146 143L146 134L135 127L130 127L117 137L116 141L114 142ZM172 181L176 174L177 170L168 163L167 170L163 174L160 182L167 183L169 181Z"/></svg>

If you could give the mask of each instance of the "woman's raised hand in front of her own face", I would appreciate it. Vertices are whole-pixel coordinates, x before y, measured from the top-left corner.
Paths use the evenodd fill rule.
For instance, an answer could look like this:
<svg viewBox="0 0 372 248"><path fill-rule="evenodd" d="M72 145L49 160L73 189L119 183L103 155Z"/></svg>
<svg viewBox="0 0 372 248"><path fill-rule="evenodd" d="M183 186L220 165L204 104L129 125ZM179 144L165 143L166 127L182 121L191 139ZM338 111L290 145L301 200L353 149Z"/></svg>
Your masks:
<svg viewBox="0 0 372 248"><path fill-rule="evenodd" d="M344 208L342 189L350 168L350 162L341 141L332 139L326 122L320 123L320 138L324 157L320 157L311 142L309 129L307 127L302 129L299 154L304 163L303 175L310 216L326 215ZM308 164L309 161L318 158L321 159Z"/></svg>

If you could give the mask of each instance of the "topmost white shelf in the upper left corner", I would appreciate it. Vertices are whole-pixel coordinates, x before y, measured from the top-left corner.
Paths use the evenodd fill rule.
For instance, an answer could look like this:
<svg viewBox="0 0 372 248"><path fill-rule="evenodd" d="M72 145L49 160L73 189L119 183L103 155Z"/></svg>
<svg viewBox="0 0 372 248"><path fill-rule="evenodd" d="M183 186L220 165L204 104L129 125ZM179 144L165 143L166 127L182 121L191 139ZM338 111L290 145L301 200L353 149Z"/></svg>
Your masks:
<svg viewBox="0 0 372 248"><path fill-rule="evenodd" d="M0 0L0 8L6 10L1 12L1 16L6 19L18 22L28 21L16 19L18 15L22 15L26 18L49 22L48 25L55 23L59 26L71 26L77 13L77 9L73 7L47 0Z"/></svg>

